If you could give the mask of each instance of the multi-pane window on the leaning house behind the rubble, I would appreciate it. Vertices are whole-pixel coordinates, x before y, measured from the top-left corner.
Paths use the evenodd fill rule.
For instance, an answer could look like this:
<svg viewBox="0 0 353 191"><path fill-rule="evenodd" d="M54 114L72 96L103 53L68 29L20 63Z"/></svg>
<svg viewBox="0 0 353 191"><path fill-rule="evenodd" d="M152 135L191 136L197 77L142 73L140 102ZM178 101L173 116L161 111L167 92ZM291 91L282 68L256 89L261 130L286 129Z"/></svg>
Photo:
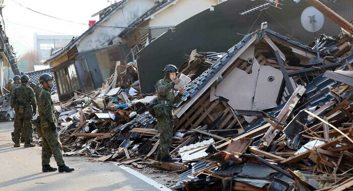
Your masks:
<svg viewBox="0 0 353 191"><path fill-rule="evenodd" d="M56 81L59 86L60 94L80 89L80 83L78 81L74 63L57 70L55 74L57 76Z"/></svg>

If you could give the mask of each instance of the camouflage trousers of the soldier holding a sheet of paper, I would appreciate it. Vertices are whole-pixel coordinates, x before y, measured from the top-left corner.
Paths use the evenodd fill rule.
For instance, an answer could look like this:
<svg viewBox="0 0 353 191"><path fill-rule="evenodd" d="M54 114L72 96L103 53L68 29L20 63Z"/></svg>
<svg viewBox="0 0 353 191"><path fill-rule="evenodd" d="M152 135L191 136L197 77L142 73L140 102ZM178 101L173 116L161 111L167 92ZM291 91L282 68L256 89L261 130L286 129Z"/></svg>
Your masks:
<svg viewBox="0 0 353 191"><path fill-rule="evenodd" d="M159 153L161 157L169 156L169 149L173 135L173 114L171 107L164 108L164 114L157 117L159 132Z"/></svg>

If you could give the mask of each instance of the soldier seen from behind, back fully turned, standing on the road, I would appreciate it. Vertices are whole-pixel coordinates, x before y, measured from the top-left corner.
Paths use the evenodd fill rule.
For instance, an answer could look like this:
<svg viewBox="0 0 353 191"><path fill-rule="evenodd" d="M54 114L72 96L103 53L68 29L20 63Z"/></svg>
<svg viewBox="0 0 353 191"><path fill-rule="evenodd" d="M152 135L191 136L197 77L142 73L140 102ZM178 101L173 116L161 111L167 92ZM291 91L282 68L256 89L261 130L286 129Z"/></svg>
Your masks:
<svg viewBox="0 0 353 191"><path fill-rule="evenodd" d="M33 140L33 128L31 119L35 115L37 109L36 100L34 98L34 92L31 87L28 86L29 76L22 75L21 85L12 89L11 92L11 104L15 108L16 117L14 123L14 147L20 147L20 134L22 131L22 137L25 141L25 147L34 147L32 144Z"/></svg>

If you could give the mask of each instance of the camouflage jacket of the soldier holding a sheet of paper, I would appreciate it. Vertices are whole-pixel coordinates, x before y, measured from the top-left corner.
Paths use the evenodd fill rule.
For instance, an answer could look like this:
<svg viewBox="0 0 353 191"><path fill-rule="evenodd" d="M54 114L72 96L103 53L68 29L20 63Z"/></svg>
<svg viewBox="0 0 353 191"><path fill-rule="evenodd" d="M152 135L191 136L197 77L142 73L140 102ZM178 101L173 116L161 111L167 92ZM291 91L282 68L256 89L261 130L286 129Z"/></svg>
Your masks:
<svg viewBox="0 0 353 191"><path fill-rule="evenodd" d="M182 94L178 93L177 96L174 94L174 82L172 82L168 77L164 77L157 81L156 84L158 102L169 101L173 104L177 104L182 101Z"/></svg>

